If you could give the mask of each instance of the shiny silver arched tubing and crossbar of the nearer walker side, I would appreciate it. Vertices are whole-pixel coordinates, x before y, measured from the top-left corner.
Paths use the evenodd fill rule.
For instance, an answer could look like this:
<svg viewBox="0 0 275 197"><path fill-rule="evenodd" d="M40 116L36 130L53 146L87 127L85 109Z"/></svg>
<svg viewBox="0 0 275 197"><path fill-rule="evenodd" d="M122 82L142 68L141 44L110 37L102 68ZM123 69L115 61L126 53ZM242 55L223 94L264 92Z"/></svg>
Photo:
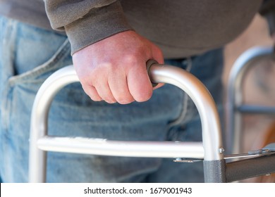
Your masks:
<svg viewBox="0 0 275 197"><path fill-rule="evenodd" d="M46 179L46 155L44 151L133 157L204 158L204 160L209 161L222 160L224 155L221 151L223 146L219 114L212 96L204 85L189 72L171 65L152 65L149 70L149 77L153 83L173 84L183 89L193 99L202 122L202 143L109 141L106 139L72 139L69 137L47 136L48 113L51 101L62 87L79 81L73 66L69 65L51 75L42 84L35 97L30 125L30 182L44 182ZM40 174L41 172L43 174Z"/></svg>

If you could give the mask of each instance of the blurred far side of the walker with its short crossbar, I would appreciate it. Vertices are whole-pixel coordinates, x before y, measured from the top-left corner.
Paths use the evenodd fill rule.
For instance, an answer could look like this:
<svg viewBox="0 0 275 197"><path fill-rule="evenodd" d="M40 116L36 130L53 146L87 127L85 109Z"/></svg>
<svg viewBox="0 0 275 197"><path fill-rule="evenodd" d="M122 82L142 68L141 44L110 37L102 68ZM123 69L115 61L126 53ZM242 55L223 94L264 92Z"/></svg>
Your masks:
<svg viewBox="0 0 275 197"><path fill-rule="evenodd" d="M275 106L247 105L243 101L243 80L247 72L263 59L275 60L274 49L269 46L255 46L242 53L231 68L228 77L226 102L226 150L231 153L243 151L243 114L275 115Z"/></svg>

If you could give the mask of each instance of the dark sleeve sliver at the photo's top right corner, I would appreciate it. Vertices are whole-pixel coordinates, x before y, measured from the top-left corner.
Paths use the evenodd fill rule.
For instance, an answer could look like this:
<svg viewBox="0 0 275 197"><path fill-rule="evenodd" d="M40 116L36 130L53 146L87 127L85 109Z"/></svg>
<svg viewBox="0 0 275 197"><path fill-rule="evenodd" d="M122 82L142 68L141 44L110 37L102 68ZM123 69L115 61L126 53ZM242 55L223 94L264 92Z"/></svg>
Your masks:
<svg viewBox="0 0 275 197"><path fill-rule="evenodd" d="M264 0L259 13L267 19L269 32L275 34L275 0Z"/></svg>

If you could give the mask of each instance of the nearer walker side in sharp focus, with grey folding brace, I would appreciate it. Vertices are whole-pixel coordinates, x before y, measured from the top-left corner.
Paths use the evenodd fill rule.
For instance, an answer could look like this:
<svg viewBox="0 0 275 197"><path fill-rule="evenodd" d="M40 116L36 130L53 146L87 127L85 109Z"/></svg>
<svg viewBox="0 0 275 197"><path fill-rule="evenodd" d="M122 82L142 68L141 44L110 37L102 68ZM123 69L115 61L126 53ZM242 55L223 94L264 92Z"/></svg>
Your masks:
<svg viewBox="0 0 275 197"><path fill-rule="evenodd" d="M51 101L67 84L79 82L72 65L54 72L40 87L32 107L29 182L46 182L46 151L93 155L172 158L175 162L203 161L204 182L235 182L275 172L275 144L245 154L224 155L219 114L204 84L189 72L172 65L147 63L152 83L173 84L193 99L202 122L202 141L111 141L47 135ZM250 157L226 162L226 159ZM248 165L249 164L249 165Z"/></svg>

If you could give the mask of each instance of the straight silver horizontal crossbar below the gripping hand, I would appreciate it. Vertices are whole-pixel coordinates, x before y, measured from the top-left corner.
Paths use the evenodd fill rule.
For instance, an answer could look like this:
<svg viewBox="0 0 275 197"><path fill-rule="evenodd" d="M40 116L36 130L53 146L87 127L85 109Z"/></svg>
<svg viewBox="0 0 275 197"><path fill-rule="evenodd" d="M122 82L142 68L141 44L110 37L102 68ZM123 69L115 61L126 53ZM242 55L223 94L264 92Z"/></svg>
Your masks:
<svg viewBox="0 0 275 197"><path fill-rule="evenodd" d="M111 141L83 137L44 136L37 141L37 146L43 151L63 153L146 158L204 158L202 142Z"/></svg>

